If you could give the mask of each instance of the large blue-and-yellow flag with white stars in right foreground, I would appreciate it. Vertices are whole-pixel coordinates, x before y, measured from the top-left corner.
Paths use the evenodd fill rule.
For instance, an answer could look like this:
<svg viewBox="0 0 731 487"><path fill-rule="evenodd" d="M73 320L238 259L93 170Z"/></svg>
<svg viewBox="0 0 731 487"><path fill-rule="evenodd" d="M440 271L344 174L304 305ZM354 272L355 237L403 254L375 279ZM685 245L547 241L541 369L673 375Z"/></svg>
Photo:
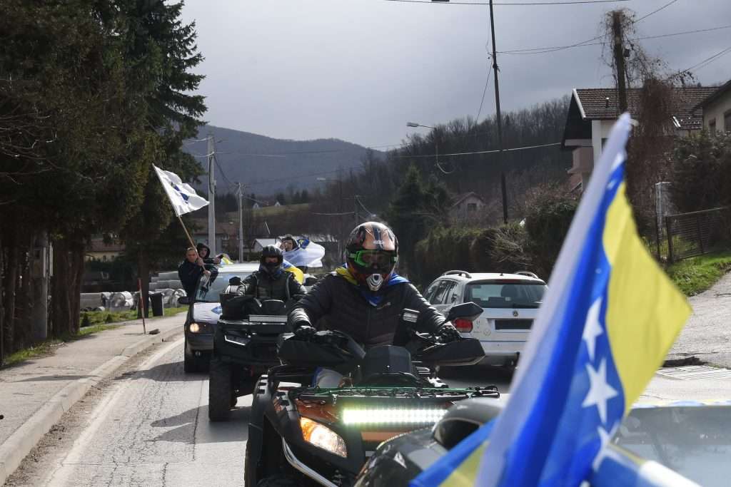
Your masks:
<svg viewBox="0 0 731 487"><path fill-rule="evenodd" d="M412 487L694 485L607 448L690 312L637 234L624 182L630 130L624 114L561 248L507 406Z"/></svg>

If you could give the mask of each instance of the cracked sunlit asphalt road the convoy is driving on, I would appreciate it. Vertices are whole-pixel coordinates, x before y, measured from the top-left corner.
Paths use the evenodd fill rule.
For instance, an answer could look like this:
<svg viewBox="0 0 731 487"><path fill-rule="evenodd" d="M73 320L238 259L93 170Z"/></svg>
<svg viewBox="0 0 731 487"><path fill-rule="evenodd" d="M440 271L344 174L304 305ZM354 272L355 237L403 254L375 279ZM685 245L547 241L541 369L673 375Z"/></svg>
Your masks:
<svg viewBox="0 0 731 487"><path fill-rule="evenodd" d="M69 411L7 486L240 486L251 396L208 421L208 375L183 373L183 341L137 358ZM507 388L499 370L452 369L450 386Z"/></svg>

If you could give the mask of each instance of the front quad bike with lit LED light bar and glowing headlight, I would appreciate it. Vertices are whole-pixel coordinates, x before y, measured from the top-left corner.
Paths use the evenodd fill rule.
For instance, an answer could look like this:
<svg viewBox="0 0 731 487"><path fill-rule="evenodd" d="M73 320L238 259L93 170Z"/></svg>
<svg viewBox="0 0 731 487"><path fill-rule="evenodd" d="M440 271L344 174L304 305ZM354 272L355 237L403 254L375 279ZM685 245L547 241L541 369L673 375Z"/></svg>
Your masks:
<svg viewBox="0 0 731 487"><path fill-rule="evenodd" d="M474 319L480 312L465 303L448 318ZM415 313L404 311L402 321L413 323ZM441 365L477 364L484 356L479 340L410 335L404 346L367 353L338 331L319 331L308 341L283 335L284 365L262 375L254 391L245 485L352 486L381 442L432 426L455 402L499 397L495 386L449 388L436 377ZM340 387L311 386L318 367L343 373Z"/></svg>

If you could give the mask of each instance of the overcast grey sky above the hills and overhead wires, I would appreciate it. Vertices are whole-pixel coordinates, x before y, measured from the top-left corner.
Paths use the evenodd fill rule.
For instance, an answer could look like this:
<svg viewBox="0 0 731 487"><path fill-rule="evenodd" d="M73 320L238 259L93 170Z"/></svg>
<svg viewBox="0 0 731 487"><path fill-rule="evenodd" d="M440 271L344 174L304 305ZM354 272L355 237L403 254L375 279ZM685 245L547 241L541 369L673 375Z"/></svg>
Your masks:
<svg viewBox="0 0 731 487"><path fill-rule="evenodd" d="M598 35L604 12L613 7L642 16L669 1L496 5L497 49L575 44ZM183 15L197 23L205 56L197 71L206 76L200 92L207 97L205 118L216 126L375 146L401 142L413 130L407 120L433 125L474 117L480 107L489 63L486 6L187 0ZM730 24L729 0L677 0L638 23L637 30L654 36ZM731 47L731 29L648 39L643 45L673 69L685 69ZM576 87L610 85L601 54L600 45L498 54L502 109L529 107ZM696 74L704 84L729 80L731 53ZM491 80L480 119L494 110Z"/></svg>

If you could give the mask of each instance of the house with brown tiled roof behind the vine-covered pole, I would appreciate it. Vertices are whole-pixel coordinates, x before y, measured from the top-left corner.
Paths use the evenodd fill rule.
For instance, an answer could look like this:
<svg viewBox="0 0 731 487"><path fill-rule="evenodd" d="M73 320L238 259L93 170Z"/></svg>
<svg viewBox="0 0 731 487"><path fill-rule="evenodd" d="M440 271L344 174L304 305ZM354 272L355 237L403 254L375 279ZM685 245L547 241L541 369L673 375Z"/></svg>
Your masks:
<svg viewBox="0 0 731 487"><path fill-rule="evenodd" d="M702 129L703 110L699 104L717 89L708 86L674 88L674 135L683 136ZM637 114L639 89L627 91L627 105L631 114ZM573 189L580 191L588 183L594 162L602 155L602 148L618 116L619 100L615 88L576 88L572 92L561 148L573 153L573 165L569 169Z"/></svg>

